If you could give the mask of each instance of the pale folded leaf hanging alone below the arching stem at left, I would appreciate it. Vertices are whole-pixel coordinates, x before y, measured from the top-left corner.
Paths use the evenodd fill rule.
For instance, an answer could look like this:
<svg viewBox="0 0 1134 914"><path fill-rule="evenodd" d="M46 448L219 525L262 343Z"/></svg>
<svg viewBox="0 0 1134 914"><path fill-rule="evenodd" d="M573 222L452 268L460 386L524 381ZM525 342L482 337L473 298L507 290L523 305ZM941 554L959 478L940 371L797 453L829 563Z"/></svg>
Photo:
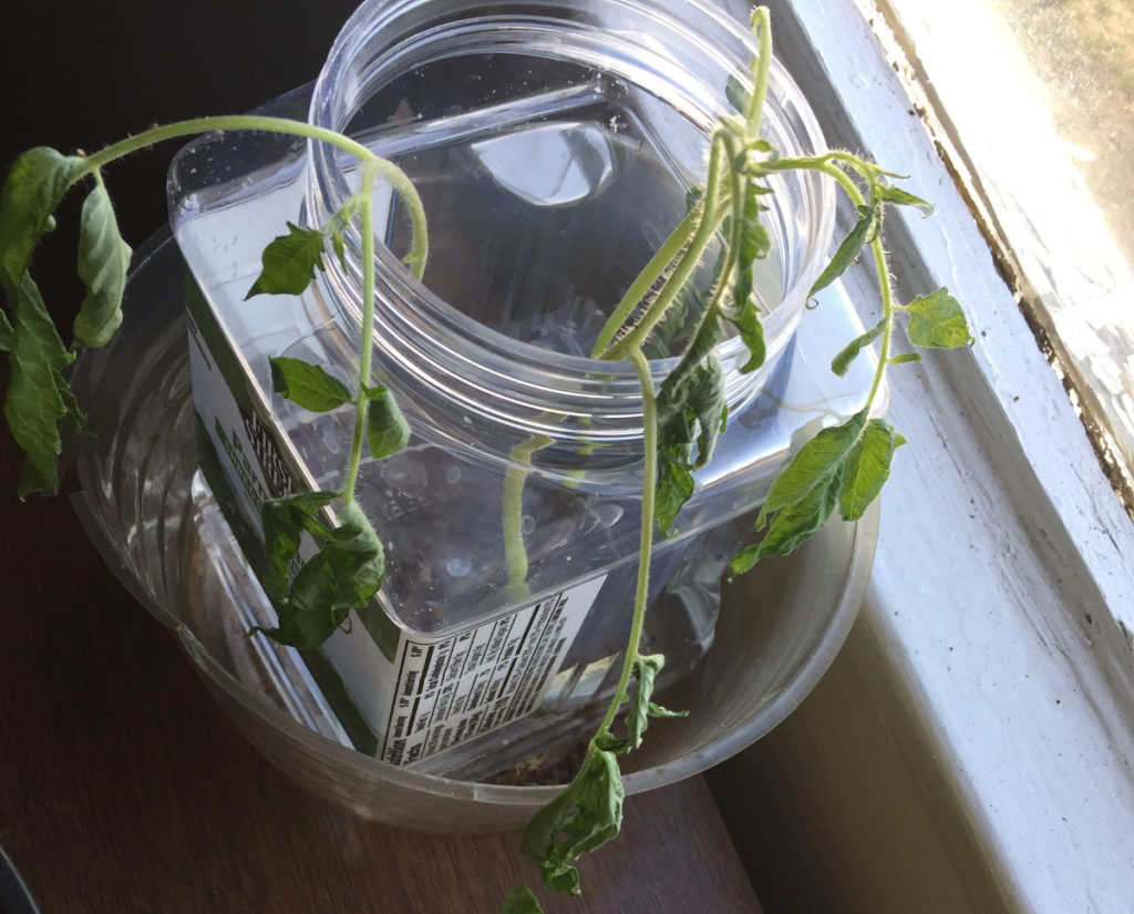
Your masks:
<svg viewBox="0 0 1134 914"><path fill-rule="evenodd" d="M102 179L83 201L78 236L78 274L86 297L75 318L75 338L86 346L105 346L122 322L122 293L130 247L118 234L115 208Z"/></svg>

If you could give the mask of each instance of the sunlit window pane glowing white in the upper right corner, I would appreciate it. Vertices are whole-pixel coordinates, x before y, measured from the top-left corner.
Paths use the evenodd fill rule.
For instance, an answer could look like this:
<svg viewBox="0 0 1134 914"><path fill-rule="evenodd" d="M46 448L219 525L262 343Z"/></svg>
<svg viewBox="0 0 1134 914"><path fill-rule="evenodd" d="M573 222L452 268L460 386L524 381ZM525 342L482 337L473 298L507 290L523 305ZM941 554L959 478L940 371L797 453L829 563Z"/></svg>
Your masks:
<svg viewBox="0 0 1134 914"><path fill-rule="evenodd" d="M1131 509L1134 3L889 0L885 18Z"/></svg>

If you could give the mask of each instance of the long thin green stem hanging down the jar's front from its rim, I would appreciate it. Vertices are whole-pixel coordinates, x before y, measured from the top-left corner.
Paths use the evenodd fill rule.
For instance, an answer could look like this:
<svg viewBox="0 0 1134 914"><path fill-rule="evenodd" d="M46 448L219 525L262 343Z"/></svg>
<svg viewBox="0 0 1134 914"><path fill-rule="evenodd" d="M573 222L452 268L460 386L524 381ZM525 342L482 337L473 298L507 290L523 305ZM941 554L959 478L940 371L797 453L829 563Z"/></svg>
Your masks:
<svg viewBox="0 0 1134 914"><path fill-rule="evenodd" d="M653 524L654 492L658 488L658 403L653 392L653 374L650 371L650 359L641 349L634 349L629 359L637 372L642 386L642 447L645 449L642 468L642 526L638 532L638 572L637 589L634 594L634 616L631 620L631 634L626 642L626 657L623 660L621 674L615 696L607 709L607 716L591 738L595 740L610 733L610 727L623 706L629 685L634 665L637 662L642 641L642 627L645 623L645 602L650 593L650 562L653 558Z"/></svg>

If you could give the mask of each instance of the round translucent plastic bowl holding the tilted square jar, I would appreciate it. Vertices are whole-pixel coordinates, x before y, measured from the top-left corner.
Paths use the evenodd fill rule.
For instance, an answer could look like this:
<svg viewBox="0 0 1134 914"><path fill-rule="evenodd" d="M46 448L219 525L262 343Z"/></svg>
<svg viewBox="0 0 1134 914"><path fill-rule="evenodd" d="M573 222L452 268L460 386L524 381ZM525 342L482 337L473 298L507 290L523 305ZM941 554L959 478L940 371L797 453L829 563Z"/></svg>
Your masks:
<svg viewBox="0 0 1134 914"><path fill-rule="evenodd" d="M82 489L73 503L107 565L170 629L237 727L302 787L392 826L521 827L557 788L456 780L345 746L310 711L312 696L305 701L293 687L295 652L247 637L248 607L240 599L247 575L219 564L194 523L185 264L168 235L139 249L135 264L121 329L105 349L84 353L73 375L95 432L76 459ZM809 379L826 382L824 359L857 327L844 298L828 294L821 307L824 320L804 321L798 345L785 356L784 370L795 379L787 387L798 399L777 404L812 420L841 401ZM816 354L820 371L812 372L806 353ZM850 629L877 535L871 509L857 524L832 523L792 556L761 564L725 590L714 643L663 699L689 714L655 721L642 748L626 756L628 794L727 759L803 701Z"/></svg>

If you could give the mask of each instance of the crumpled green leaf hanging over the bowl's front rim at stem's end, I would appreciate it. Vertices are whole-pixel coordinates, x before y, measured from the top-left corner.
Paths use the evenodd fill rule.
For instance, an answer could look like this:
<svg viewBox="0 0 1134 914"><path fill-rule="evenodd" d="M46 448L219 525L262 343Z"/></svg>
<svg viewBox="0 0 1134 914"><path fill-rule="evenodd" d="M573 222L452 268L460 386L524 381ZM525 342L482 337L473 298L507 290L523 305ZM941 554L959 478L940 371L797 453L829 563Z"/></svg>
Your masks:
<svg viewBox="0 0 1134 914"><path fill-rule="evenodd" d="M521 838L521 853L539 865L547 888L579 894L574 864L618 835L624 793L615 753L592 743L574 780L532 816Z"/></svg>

